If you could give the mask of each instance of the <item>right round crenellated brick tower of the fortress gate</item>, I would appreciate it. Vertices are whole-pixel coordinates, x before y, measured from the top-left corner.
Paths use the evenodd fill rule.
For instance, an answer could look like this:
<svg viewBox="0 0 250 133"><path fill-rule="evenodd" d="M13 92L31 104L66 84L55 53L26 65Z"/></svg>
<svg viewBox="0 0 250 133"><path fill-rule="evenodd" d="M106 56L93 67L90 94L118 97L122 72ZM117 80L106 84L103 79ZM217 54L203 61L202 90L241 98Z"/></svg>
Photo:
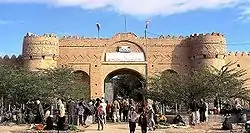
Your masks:
<svg viewBox="0 0 250 133"><path fill-rule="evenodd" d="M190 48L194 70L204 66L220 69L225 65L226 39L220 33L193 34L190 36Z"/></svg>

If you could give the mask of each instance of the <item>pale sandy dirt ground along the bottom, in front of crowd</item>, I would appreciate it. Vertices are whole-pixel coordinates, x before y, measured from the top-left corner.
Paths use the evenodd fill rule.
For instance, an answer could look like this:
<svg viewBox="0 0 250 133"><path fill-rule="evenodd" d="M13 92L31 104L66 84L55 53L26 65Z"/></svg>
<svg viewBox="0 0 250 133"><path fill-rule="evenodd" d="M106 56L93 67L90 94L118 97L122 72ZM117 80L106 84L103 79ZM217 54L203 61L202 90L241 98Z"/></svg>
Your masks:
<svg viewBox="0 0 250 133"><path fill-rule="evenodd" d="M196 126L188 127L171 127L167 129L157 129L149 133L242 133L244 131L244 125L233 125L234 130L222 131L220 130L220 123L203 123ZM128 133L128 124L107 124L103 131L97 131L97 125L90 125L87 128L79 127L83 132L87 133ZM13 126L0 126L0 133L25 133L29 131L28 125L13 125ZM140 133L140 127L137 127L136 133Z"/></svg>

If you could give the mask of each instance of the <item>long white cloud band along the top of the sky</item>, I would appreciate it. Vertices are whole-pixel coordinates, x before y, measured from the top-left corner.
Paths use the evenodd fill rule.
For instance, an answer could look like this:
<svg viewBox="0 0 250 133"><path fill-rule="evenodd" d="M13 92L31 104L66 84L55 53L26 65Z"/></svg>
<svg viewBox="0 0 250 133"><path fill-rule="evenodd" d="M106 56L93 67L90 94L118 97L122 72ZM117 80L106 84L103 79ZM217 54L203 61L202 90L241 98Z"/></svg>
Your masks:
<svg viewBox="0 0 250 133"><path fill-rule="evenodd" d="M250 0L0 0L0 3L38 3L54 6L80 6L87 10L106 8L122 14L151 17L172 15L198 9L241 7ZM246 13L244 13L246 12ZM243 10L242 16L249 16Z"/></svg>

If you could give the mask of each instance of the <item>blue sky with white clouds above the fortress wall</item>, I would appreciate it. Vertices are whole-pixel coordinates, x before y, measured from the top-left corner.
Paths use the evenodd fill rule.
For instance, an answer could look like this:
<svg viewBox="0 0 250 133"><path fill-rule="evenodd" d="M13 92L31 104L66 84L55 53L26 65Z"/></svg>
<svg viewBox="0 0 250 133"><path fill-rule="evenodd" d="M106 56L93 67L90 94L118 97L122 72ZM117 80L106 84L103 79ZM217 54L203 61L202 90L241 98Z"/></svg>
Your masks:
<svg viewBox="0 0 250 133"><path fill-rule="evenodd" d="M127 31L143 36L222 32L228 51L250 51L249 0L0 0L0 55L21 54L22 39L35 34L111 37ZM157 37L155 35L149 35Z"/></svg>

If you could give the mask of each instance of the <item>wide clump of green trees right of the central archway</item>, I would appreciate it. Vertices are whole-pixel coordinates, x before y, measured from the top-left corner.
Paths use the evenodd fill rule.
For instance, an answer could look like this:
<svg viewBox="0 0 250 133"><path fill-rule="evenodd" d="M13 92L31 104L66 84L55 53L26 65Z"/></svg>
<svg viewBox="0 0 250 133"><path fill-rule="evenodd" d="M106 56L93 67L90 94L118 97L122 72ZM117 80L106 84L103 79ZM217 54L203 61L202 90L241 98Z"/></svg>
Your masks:
<svg viewBox="0 0 250 133"><path fill-rule="evenodd" d="M189 103L193 98L249 100L249 90L244 78L246 70L232 68L229 63L221 69L204 68L189 74L175 74L165 71L155 75L149 81L149 98L160 102Z"/></svg>

